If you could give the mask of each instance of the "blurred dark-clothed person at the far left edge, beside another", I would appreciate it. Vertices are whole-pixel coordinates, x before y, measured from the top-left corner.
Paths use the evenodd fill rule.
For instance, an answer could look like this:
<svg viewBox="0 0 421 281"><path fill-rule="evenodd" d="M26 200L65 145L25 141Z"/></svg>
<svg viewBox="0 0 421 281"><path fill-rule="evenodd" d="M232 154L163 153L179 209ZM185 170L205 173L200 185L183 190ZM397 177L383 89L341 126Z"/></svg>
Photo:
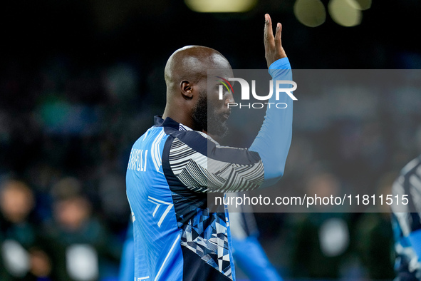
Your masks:
<svg viewBox="0 0 421 281"><path fill-rule="evenodd" d="M0 280L41 280L51 277L51 257L33 213L32 190L19 180L0 189Z"/></svg>

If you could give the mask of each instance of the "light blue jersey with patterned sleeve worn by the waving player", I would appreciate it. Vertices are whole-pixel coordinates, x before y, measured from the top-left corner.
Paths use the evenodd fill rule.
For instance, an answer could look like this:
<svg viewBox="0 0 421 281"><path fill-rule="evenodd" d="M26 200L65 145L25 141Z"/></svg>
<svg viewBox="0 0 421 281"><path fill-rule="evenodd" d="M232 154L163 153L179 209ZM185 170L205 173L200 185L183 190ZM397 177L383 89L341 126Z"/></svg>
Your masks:
<svg viewBox="0 0 421 281"><path fill-rule="evenodd" d="M274 79L291 80L289 69L282 58L269 72ZM288 99L288 108L266 111L249 150L221 146L202 132L155 116L155 126L132 147L126 175L135 281L235 280L228 213L210 212L207 192L252 190L281 178L291 144Z"/></svg>

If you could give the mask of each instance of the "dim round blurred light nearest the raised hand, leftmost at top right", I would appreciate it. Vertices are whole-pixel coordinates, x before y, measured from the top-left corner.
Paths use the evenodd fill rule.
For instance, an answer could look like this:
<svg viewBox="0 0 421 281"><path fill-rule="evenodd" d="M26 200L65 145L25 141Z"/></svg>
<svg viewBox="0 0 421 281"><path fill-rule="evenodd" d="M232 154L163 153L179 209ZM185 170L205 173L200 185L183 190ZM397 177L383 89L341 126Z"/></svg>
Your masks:
<svg viewBox="0 0 421 281"><path fill-rule="evenodd" d="M297 0L293 13L301 24L309 27L320 26L326 21L326 9L321 0Z"/></svg>

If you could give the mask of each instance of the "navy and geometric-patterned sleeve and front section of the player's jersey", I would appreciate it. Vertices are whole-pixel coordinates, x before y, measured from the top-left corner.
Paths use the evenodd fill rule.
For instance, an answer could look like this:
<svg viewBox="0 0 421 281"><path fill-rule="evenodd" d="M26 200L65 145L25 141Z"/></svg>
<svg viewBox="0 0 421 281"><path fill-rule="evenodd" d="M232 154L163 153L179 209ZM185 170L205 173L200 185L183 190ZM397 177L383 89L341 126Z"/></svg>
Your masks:
<svg viewBox="0 0 421 281"><path fill-rule="evenodd" d="M235 280L227 215L225 210L209 213L207 192L259 188L264 181L261 158L244 148L221 146L171 118L161 124L168 135L162 167L172 190L177 226L182 230L180 244L183 251L193 254L189 257L198 259L189 260L189 267L207 265L227 280ZM184 272L187 270L184 267Z"/></svg>

